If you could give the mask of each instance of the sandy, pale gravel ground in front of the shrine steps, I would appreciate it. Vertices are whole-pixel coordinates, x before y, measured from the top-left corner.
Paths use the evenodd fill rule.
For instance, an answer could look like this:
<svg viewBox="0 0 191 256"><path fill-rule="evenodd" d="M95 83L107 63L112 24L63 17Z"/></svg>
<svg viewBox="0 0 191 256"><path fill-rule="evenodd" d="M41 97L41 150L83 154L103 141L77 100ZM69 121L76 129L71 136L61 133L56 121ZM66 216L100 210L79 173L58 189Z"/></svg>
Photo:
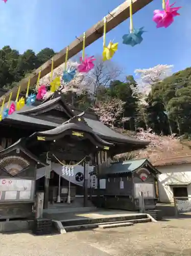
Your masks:
<svg viewBox="0 0 191 256"><path fill-rule="evenodd" d="M187 216L188 217L188 216ZM190 256L191 218L35 237L0 234L0 256Z"/></svg>

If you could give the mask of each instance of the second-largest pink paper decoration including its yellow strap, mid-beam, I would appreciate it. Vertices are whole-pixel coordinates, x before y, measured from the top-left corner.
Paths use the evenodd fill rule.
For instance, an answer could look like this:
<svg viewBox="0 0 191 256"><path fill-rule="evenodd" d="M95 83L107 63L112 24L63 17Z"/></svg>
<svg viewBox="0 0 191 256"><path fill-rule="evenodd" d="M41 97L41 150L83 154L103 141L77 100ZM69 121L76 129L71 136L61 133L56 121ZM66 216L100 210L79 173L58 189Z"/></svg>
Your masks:
<svg viewBox="0 0 191 256"><path fill-rule="evenodd" d="M93 61L96 60L95 58L93 58L94 56L85 57L85 44L86 44L85 41L86 41L86 33L84 32L82 57L80 57L80 65L78 66L78 72L80 73L87 73L91 69L93 69L94 68Z"/></svg>

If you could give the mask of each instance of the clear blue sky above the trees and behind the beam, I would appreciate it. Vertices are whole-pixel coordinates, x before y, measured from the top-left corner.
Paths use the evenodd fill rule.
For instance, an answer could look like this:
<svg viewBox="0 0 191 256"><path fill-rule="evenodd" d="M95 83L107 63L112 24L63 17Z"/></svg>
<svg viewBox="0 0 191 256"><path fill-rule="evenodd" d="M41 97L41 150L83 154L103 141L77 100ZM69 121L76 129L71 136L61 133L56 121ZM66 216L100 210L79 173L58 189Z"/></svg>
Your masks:
<svg viewBox="0 0 191 256"><path fill-rule="evenodd" d="M112 11L123 0L0 0L0 48L5 45L23 52L45 47L60 51ZM122 44L129 31L129 20L107 33L106 40L119 42L113 61L133 74L135 69L157 64L174 65L174 71L191 66L191 1L177 0L181 16L167 29L156 29L153 11L161 9L162 0L154 0L133 16L134 27L148 31L140 45ZM174 1L171 0L171 3ZM86 49L87 55L102 54L103 38Z"/></svg>

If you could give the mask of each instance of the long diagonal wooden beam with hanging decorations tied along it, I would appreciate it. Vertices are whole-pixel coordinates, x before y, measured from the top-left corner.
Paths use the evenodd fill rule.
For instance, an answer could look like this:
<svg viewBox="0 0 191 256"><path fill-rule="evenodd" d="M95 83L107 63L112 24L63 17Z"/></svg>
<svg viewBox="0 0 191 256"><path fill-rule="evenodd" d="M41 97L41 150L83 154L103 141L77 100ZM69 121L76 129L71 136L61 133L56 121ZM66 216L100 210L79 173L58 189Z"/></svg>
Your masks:
<svg viewBox="0 0 191 256"><path fill-rule="evenodd" d="M133 0L133 13L136 13L141 8L144 8L146 5L148 5L152 1L153 0ZM114 9L112 12L110 12L107 15L107 32L117 27L119 24L124 22L124 20L129 18L129 5L130 5L130 0L125 1L123 4L118 6L116 9ZM103 23L103 20L101 20L96 25L94 25L93 27L91 27L86 31L86 47L91 45L94 41L98 40L100 37L103 36L103 27L104 27L104 23ZM71 42L71 44L69 45L68 59L75 56L77 53L79 53L82 50L82 43L83 43L83 35L77 37L76 40ZM53 57L54 68L57 68L65 61L65 54L66 54L66 47ZM31 86L36 83L40 69L41 69L41 77L50 73L51 60L46 61L40 68L38 68L37 70L33 71L32 74L30 74ZM23 78L19 82L21 91L24 91L27 89L27 84L28 84L28 77ZM17 88L18 87L16 86L11 90L13 92L13 95L12 95L13 100L16 98ZM6 96L6 101L8 100L8 97L11 91L7 92L4 95ZM2 104L4 96L0 98L0 105Z"/></svg>

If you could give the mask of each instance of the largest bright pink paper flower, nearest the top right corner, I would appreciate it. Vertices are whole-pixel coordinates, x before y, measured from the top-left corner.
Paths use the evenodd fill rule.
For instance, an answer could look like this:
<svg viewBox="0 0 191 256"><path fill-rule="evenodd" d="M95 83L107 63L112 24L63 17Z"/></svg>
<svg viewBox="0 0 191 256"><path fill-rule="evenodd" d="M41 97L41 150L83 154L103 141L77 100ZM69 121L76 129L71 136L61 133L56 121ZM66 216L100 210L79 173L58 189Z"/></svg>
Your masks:
<svg viewBox="0 0 191 256"><path fill-rule="evenodd" d="M172 7L174 4L170 5L169 0L167 0L164 10L154 11L153 21L157 24L157 28L168 28L174 22L174 17L180 15L178 10L181 7Z"/></svg>

